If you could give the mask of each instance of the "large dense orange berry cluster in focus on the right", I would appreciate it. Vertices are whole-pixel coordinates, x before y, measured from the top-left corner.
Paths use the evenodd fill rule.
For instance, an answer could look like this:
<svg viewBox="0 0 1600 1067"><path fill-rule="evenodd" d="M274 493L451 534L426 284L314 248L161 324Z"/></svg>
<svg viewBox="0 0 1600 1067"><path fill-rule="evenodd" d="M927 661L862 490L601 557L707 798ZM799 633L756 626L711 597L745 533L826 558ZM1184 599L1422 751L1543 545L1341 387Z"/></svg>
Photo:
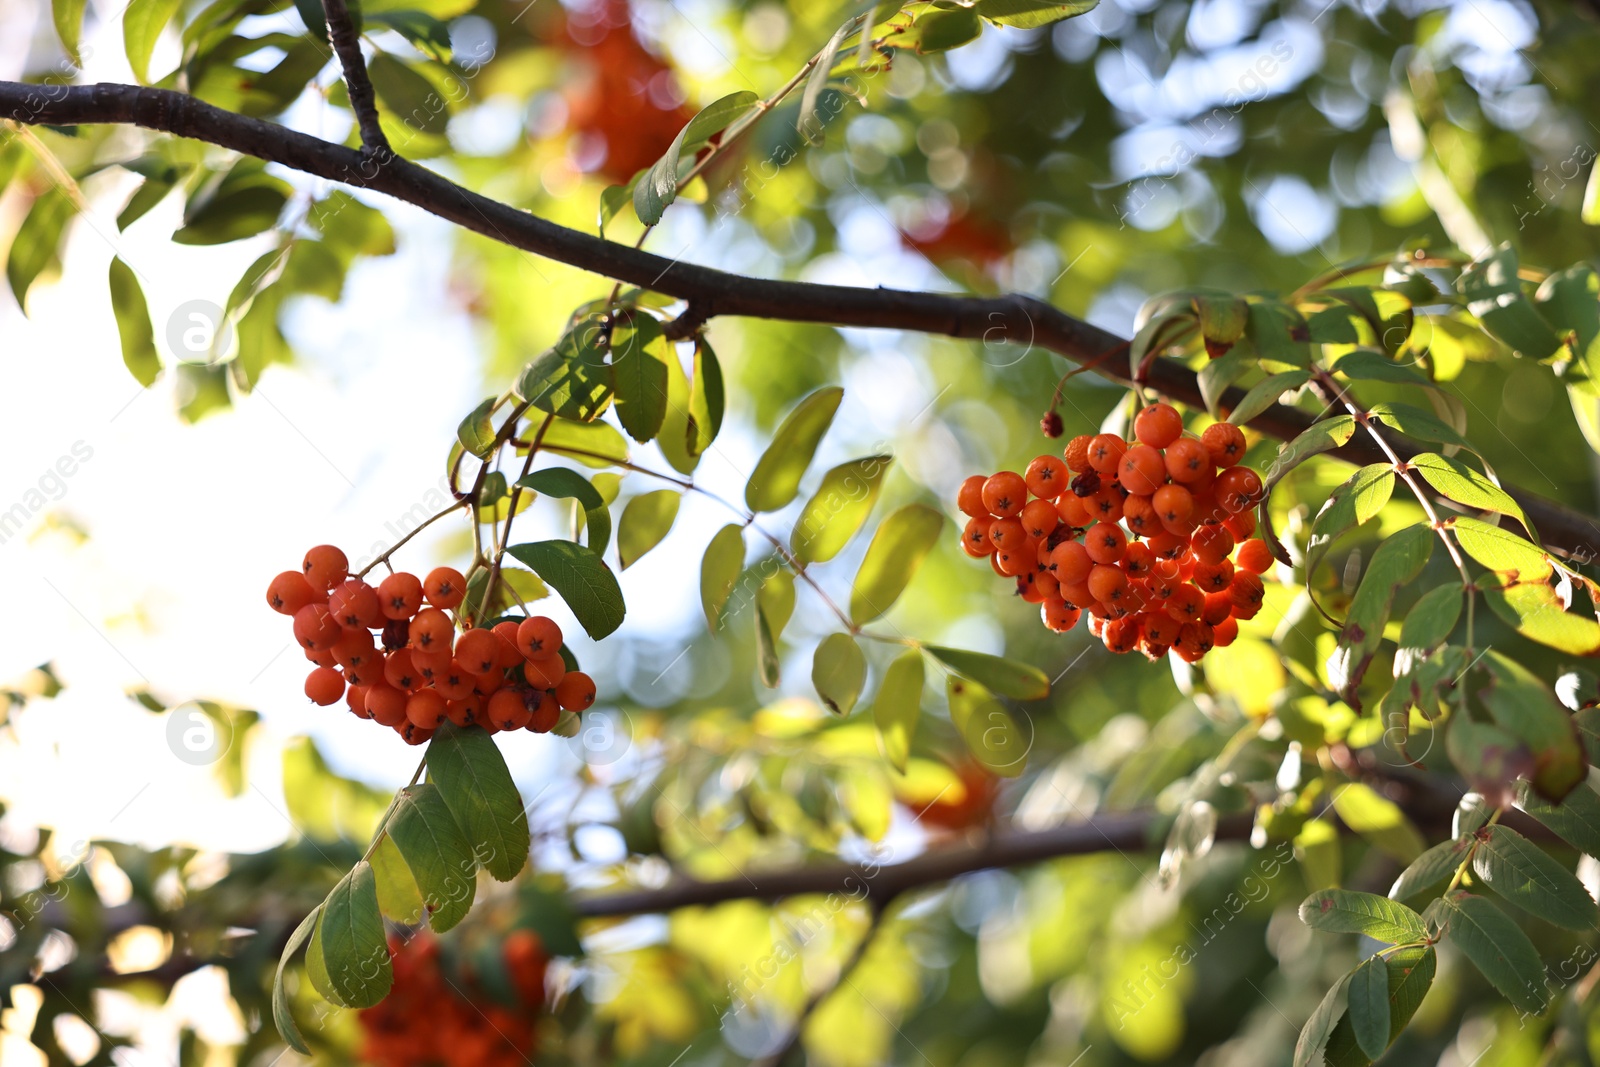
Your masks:
<svg viewBox="0 0 1600 1067"><path fill-rule="evenodd" d="M1157 403L1133 434L1085 434L1064 462L1040 456L1026 474L966 478L962 547L1014 579L1051 630L1088 611L1114 653L1197 662L1261 609L1272 565L1253 537L1261 475L1238 466L1245 435L1227 422L1184 437L1178 411Z"/></svg>

